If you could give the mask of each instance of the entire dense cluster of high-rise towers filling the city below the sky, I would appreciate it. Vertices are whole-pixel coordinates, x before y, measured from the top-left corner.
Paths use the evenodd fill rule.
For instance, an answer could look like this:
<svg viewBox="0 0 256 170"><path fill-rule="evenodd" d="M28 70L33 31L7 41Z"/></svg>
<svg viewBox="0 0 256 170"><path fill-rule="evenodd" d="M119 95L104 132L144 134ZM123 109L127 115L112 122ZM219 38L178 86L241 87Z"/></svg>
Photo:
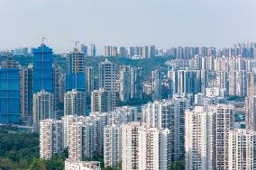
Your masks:
<svg viewBox="0 0 256 170"><path fill-rule="evenodd" d="M96 58L96 45L83 44L64 67L45 44L27 67L6 53L0 123L32 126L40 157L68 150L69 169L98 169L83 161L96 156L124 170L256 169L255 48L105 46Z"/></svg>

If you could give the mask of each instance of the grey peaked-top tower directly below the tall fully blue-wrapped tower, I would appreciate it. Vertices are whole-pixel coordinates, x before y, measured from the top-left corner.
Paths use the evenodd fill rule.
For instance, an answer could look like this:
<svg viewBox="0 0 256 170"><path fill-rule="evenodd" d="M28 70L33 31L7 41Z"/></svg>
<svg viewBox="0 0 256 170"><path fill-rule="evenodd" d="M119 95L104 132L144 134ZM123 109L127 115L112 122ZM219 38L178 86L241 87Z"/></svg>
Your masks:
<svg viewBox="0 0 256 170"><path fill-rule="evenodd" d="M39 132L40 121L55 118L53 100L53 94L44 90L33 94L33 130L35 132Z"/></svg>

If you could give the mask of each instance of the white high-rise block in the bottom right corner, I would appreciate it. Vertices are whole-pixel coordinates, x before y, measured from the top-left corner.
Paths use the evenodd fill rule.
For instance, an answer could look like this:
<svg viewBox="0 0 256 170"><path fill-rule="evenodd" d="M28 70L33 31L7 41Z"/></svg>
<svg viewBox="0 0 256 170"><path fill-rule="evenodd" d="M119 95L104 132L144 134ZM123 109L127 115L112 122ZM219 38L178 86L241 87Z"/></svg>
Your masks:
<svg viewBox="0 0 256 170"><path fill-rule="evenodd" d="M229 135L229 170L256 169L256 132L231 130Z"/></svg>

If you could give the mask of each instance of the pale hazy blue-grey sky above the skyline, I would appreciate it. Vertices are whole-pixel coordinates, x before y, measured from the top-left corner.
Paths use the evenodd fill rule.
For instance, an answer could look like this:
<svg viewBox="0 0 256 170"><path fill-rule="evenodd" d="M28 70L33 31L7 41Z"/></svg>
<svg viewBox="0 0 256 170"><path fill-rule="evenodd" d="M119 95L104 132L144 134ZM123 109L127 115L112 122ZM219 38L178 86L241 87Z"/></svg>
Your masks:
<svg viewBox="0 0 256 170"><path fill-rule="evenodd" d="M256 0L0 0L0 49L55 52L72 41L130 46L232 46L256 41Z"/></svg>

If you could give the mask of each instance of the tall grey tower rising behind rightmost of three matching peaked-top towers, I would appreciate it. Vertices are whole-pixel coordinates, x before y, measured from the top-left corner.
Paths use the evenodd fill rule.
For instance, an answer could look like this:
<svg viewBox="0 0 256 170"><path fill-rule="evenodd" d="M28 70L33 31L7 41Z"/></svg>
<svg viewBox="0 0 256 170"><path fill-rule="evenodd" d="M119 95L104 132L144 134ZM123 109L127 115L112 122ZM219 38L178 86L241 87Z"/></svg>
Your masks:
<svg viewBox="0 0 256 170"><path fill-rule="evenodd" d="M110 93L110 110L114 111L116 107L116 93L117 93L117 67L113 62L105 59L99 64L99 87L104 88Z"/></svg>

